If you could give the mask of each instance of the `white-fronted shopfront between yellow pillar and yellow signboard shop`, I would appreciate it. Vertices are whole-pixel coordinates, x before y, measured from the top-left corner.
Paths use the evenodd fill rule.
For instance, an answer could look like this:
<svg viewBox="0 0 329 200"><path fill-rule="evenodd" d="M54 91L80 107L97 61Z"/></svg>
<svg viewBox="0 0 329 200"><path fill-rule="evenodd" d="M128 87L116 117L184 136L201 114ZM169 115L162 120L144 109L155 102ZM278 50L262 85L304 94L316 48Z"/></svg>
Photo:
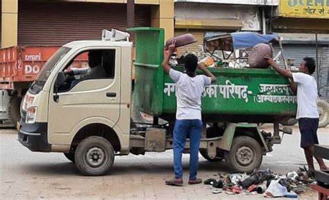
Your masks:
<svg viewBox="0 0 329 200"><path fill-rule="evenodd" d="M265 32L264 9L277 5L278 0L176 0L175 35L193 33L198 40L180 51L199 51L208 32Z"/></svg>

